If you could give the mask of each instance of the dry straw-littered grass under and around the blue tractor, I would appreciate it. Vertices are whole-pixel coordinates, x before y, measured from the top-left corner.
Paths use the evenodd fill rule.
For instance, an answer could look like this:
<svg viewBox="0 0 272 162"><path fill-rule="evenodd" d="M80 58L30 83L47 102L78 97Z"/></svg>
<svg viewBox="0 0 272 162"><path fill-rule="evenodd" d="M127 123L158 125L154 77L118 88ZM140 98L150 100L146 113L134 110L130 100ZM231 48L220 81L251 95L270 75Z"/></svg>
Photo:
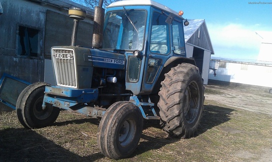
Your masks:
<svg viewBox="0 0 272 162"><path fill-rule="evenodd" d="M195 137L169 138L157 121L144 121L134 154L121 162L259 162L271 159L272 119L267 114L206 100ZM15 112L0 112L0 162L114 161L99 153L99 121L61 111L51 127L27 130Z"/></svg>

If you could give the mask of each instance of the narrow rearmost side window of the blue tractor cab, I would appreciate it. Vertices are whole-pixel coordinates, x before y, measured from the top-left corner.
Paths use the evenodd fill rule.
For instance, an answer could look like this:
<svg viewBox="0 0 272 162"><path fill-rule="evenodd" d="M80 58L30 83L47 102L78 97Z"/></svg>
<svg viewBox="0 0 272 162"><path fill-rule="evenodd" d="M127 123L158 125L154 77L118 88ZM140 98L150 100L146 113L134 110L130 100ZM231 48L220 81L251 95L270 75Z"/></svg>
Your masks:
<svg viewBox="0 0 272 162"><path fill-rule="evenodd" d="M173 21L172 22L172 31L173 31L173 47L174 53L185 55L185 47L184 47L184 36L183 36L183 24L182 22Z"/></svg>

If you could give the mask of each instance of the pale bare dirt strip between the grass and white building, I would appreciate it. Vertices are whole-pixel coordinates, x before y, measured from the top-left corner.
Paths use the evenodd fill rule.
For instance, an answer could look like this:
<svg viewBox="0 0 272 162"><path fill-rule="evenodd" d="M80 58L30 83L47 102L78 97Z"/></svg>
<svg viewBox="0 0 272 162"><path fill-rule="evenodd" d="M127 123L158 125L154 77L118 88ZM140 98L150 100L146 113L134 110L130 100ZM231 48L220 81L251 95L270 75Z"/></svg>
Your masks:
<svg viewBox="0 0 272 162"><path fill-rule="evenodd" d="M269 87L209 80L205 100L255 113L272 115L272 94Z"/></svg>

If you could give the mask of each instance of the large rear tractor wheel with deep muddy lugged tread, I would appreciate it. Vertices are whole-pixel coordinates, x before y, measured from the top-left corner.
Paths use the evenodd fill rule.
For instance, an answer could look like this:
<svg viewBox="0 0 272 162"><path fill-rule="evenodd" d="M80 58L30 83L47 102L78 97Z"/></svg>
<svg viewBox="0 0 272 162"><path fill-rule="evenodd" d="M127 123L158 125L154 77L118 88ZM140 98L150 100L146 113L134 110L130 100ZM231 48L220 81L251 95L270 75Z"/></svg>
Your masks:
<svg viewBox="0 0 272 162"><path fill-rule="evenodd" d="M158 107L160 125L172 137L190 138L200 124L204 87L196 66L182 63L165 74Z"/></svg>

